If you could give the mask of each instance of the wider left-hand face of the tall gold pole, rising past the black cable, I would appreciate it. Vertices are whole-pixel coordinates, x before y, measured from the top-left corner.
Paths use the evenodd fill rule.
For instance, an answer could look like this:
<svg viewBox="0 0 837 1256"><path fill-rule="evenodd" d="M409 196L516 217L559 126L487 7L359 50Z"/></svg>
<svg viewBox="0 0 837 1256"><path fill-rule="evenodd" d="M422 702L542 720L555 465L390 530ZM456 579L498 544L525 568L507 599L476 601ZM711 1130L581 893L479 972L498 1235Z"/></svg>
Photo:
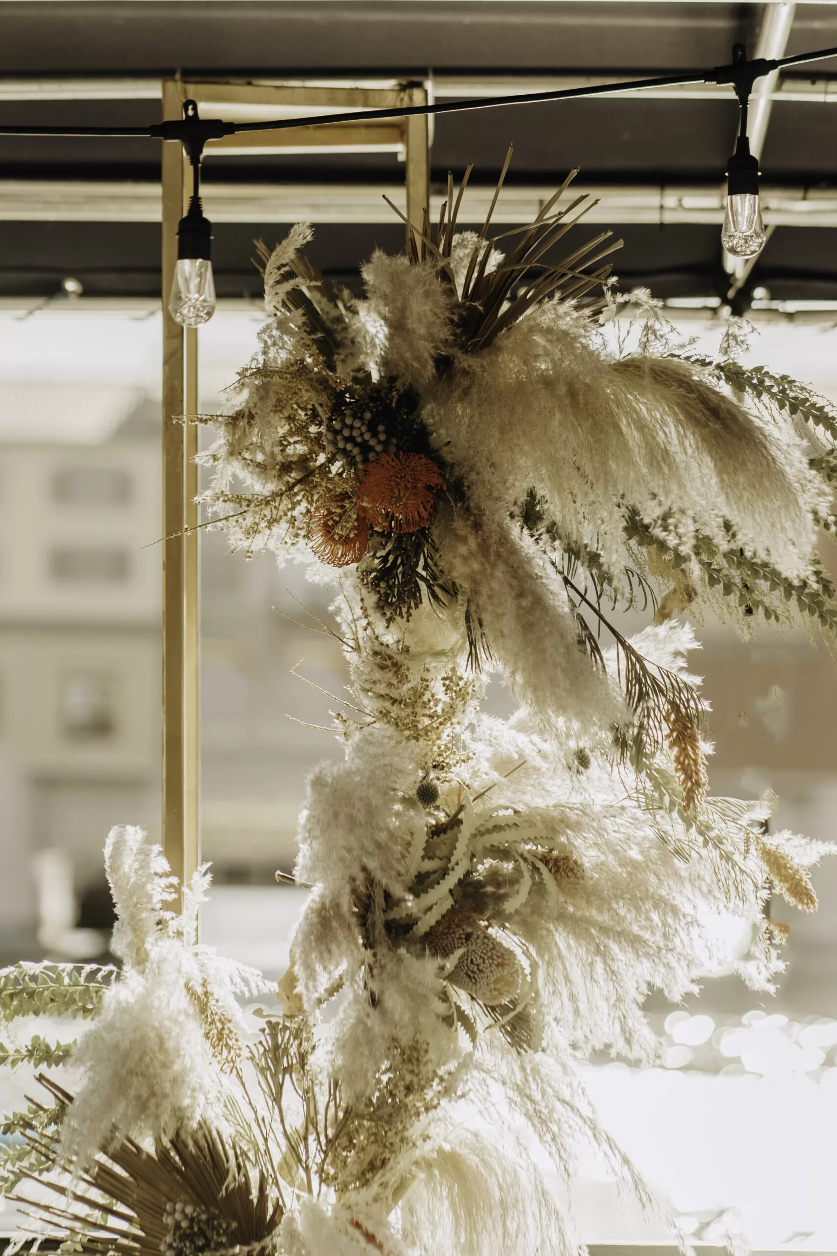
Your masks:
<svg viewBox="0 0 837 1256"><path fill-rule="evenodd" d="M182 114L182 88L163 83L163 119ZM163 143L163 853L176 877L184 872L183 764L183 328L168 313L183 214L183 154Z"/></svg>

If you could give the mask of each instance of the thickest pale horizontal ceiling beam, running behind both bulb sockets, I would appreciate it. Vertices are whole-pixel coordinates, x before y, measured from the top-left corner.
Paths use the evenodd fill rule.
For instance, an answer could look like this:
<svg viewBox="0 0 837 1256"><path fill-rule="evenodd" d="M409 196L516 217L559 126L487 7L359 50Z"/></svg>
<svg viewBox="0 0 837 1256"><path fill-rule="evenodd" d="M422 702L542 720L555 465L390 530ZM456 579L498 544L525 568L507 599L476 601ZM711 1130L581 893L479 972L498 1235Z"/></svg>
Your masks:
<svg viewBox="0 0 837 1256"><path fill-rule="evenodd" d="M553 188L540 185L506 187L493 221L522 224L537 216ZM587 222L720 224L725 188L704 186L573 185L573 196L589 193L595 203ZM459 211L463 224L482 224L493 186L468 186ZM404 208L402 185L366 183L215 183L202 187L213 222L299 221L335 224L394 224L383 197ZM445 191L430 197L430 219L439 215ZM837 226L837 188L762 187L764 221L773 226ZM82 182L69 180L0 181L0 220L36 222L159 222L161 188L156 182Z"/></svg>

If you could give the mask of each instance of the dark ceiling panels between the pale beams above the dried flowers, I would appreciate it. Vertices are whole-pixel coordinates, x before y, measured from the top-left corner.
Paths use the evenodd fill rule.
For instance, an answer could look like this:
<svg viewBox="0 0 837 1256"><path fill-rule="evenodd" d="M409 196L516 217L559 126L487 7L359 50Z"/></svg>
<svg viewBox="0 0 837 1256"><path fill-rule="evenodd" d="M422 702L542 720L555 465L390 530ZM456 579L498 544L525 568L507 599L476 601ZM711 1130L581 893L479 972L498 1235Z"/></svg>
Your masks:
<svg viewBox="0 0 837 1256"><path fill-rule="evenodd" d="M428 73L517 78L556 73L674 74L752 50L760 4L550 3L550 0L309 0L295 3L4 3L0 74L14 79L127 75L353 78ZM788 54L837 44L837 11L798 5ZM836 62L806 70L837 77ZM802 75L804 77L804 75ZM0 122L148 126L154 99L9 100ZM719 185L732 151L738 107L724 99L590 99L523 106L435 119L432 177L491 183L509 142L509 181L547 186L580 166L585 183ZM0 137L0 198L8 181L159 180L158 141ZM778 103L762 157L770 185L837 186L837 116L821 103ZM207 160L205 178L269 183L400 181L394 154L227 157ZM714 296L724 290L714 226L614 221L625 246L615 257L625 285L660 296ZM253 295L252 240L284 234L276 224L216 225L220 295ZM600 227L591 229L597 231ZM315 260L354 284L359 261L380 244L398 249L398 224L323 225ZM44 295L67 275L89 295L159 290L158 229L147 222L0 221L0 295ZM784 299L837 298L833 229L778 227L748 280Z"/></svg>

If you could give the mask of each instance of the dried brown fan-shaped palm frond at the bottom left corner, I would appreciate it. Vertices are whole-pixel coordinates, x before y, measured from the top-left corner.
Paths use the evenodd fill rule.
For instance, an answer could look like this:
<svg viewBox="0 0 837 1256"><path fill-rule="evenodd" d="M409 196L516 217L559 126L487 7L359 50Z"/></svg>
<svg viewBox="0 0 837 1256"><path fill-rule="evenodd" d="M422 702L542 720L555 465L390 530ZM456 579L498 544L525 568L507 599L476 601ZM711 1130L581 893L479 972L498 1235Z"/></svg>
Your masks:
<svg viewBox="0 0 837 1256"><path fill-rule="evenodd" d="M38 1080L55 1100L60 1123L73 1096L43 1074ZM188 1137L158 1140L153 1150L123 1139L103 1148L90 1166L63 1161L58 1139L46 1143L35 1119L21 1135L49 1154L53 1172L25 1174L39 1184L41 1198L13 1198L65 1240L80 1240L85 1251L100 1256L267 1248L282 1218L282 1199L269 1192L261 1174L253 1182L238 1148L206 1122Z"/></svg>

